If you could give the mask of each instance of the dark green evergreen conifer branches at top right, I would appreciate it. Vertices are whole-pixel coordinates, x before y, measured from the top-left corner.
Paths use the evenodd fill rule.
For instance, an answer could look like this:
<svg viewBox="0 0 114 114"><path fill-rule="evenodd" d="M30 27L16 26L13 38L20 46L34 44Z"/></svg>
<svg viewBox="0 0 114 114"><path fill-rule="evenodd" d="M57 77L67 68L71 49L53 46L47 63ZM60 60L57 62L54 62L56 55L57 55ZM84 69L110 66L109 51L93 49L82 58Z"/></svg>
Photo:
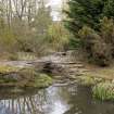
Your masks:
<svg viewBox="0 0 114 114"><path fill-rule="evenodd" d="M76 35L84 26L99 30L103 16L114 17L114 0L69 0L66 27Z"/></svg>

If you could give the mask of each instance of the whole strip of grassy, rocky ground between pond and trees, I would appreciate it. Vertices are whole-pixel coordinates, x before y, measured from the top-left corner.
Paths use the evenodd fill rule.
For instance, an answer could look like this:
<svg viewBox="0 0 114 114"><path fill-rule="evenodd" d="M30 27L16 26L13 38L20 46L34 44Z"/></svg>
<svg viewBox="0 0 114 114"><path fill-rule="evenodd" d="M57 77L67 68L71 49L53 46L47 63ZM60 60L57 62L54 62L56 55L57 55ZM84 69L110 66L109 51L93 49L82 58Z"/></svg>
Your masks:
<svg viewBox="0 0 114 114"><path fill-rule="evenodd" d="M71 52L59 52L37 61L10 61L0 64L0 87L11 92L78 84L91 87L93 97L114 100L114 66L98 67L74 60Z"/></svg>

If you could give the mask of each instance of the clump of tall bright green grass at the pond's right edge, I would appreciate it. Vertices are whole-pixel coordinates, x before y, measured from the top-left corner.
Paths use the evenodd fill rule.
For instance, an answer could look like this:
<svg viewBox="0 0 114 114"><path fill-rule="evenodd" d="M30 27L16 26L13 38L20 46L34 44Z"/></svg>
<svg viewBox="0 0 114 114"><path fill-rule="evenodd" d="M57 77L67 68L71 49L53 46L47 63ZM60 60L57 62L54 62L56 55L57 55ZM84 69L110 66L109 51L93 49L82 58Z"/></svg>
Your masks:
<svg viewBox="0 0 114 114"><path fill-rule="evenodd" d="M114 100L114 84L100 83L92 89L93 97L100 100Z"/></svg>

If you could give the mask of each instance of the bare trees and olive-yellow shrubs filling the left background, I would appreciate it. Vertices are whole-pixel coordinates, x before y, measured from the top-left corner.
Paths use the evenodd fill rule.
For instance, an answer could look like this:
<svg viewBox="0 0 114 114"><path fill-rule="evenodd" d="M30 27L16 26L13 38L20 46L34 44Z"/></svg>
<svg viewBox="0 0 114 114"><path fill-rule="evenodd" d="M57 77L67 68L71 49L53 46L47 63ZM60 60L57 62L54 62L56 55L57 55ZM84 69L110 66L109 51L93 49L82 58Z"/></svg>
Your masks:
<svg viewBox="0 0 114 114"><path fill-rule="evenodd" d="M43 0L10 1L11 4L9 0L0 2L4 7L0 10L0 52L43 54L48 47L48 28L52 23L51 9L46 8Z"/></svg>

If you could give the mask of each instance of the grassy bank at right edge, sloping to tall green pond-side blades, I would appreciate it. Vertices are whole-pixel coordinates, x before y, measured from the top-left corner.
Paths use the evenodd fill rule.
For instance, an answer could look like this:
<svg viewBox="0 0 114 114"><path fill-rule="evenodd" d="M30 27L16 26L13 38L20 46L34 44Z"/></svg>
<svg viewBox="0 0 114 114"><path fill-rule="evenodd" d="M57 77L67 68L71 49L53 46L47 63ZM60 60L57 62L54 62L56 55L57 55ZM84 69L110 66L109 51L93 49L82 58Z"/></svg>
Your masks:
<svg viewBox="0 0 114 114"><path fill-rule="evenodd" d="M103 69L101 69L103 71ZM105 71L100 75L99 73L90 73L85 74L84 76L77 77L79 85L91 87L92 88L92 96L99 100L105 101L114 101L114 80L109 75L106 76L105 73L111 73L113 71ZM103 75L104 73L104 75Z"/></svg>

